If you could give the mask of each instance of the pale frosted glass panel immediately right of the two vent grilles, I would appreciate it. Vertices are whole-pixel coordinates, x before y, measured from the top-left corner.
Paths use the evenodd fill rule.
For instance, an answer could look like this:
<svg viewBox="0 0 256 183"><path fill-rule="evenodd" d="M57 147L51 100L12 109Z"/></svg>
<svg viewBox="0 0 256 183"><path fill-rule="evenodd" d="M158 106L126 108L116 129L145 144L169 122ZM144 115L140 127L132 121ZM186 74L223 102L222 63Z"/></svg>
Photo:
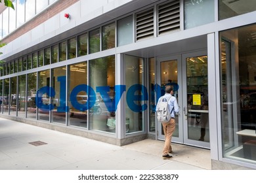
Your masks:
<svg viewBox="0 0 256 183"><path fill-rule="evenodd" d="M184 0L185 29L214 22L214 6L212 0Z"/></svg>

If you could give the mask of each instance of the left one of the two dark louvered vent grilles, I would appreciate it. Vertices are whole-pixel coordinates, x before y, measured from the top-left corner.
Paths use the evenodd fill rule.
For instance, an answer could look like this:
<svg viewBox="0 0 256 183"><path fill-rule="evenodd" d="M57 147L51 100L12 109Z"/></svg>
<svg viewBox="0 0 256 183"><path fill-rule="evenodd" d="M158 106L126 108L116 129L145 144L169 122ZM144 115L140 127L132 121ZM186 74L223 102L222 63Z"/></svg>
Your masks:
<svg viewBox="0 0 256 183"><path fill-rule="evenodd" d="M154 37L154 8L136 14L136 40Z"/></svg>

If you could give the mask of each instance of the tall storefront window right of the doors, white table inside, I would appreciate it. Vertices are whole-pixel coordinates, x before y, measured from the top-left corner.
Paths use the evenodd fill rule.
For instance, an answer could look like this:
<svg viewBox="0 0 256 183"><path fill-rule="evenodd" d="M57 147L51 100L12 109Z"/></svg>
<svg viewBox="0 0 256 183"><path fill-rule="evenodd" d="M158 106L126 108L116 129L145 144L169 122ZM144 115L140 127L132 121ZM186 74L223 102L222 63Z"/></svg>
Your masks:
<svg viewBox="0 0 256 183"><path fill-rule="evenodd" d="M256 25L220 33L223 156L256 163Z"/></svg>

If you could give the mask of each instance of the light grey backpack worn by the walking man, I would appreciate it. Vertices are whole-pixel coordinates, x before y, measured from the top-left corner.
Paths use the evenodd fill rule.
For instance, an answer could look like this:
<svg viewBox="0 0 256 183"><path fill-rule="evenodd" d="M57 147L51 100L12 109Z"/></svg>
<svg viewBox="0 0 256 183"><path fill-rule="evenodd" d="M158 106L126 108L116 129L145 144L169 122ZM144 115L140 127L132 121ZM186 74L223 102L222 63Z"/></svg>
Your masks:
<svg viewBox="0 0 256 183"><path fill-rule="evenodd" d="M168 97L167 99L165 97L160 98L158 102L158 108L156 109L158 122L167 123L169 122L169 120L171 120L171 113L169 112L169 105L168 105L168 101L169 99L171 99L171 97ZM171 110L171 112L173 112L173 109Z"/></svg>

